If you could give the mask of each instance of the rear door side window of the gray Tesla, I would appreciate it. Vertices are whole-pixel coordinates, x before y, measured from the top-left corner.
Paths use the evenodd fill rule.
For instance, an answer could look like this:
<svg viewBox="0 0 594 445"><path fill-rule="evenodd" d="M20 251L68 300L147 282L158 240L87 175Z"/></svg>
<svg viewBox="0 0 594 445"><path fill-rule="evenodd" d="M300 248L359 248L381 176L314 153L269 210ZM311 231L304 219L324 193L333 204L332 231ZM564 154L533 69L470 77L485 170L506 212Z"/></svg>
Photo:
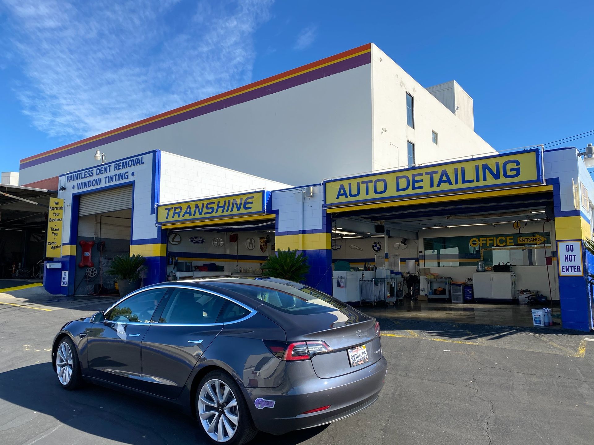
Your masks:
<svg viewBox="0 0 594 445"><path fill-rule="evenodd" d="M217 323L225 298L199 290L175 289L159 318L159 323L207 325Z"/></svg>

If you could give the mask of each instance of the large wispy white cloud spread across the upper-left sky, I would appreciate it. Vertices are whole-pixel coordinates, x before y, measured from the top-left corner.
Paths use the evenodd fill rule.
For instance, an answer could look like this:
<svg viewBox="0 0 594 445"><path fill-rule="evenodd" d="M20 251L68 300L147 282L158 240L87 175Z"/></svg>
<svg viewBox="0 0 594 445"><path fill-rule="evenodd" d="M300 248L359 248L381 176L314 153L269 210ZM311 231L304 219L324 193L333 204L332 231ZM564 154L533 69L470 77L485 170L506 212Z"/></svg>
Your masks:
<svg viewBox="0 0 594 445"><path fill-rule="evenodd" d="M83 137L238 87L272 1L0 0L15 91L34 126Z"/></svg>

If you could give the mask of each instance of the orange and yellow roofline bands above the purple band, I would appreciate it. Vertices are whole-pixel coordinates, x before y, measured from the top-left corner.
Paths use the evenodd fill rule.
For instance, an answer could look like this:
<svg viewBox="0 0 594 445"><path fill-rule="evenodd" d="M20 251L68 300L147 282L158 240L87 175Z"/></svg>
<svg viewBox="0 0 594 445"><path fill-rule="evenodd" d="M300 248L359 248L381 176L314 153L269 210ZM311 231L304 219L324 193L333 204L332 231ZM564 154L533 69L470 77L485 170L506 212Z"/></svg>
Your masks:
<svg viewBox="0 0 594 445"><path fill-rule="evenodd" d="M366 45L358 46L356 48L336 54L334 56L330 56L330 57L321 59L316 62L308 63L307 65L299 66L298 68L290 69L289 71L285 71L280 74L277 74L277 75L274 75L271 77L267 77L266 79L263 79L263 80L260 80L257 82L252 82L251 84L244 85L243 87L235 88L234 90L230 90L230 91L226 91L225 93L217 94L216 96L208 97L206 99L199 100L197 102L193 102L191 104L184 105L182 107L178 107L173 110L169 110L167 112L160 113L159 115L156 115L156 116L147 117L146 119L142 119L142 120L138 120L137 122L129 123L128 125L124 125L119 128L103 132L99 135L90 136L89 138L81 139L80 141L77 141L77 142L71 142L71 144L62 145L62 147L53 148L52 150L44 151L40 154L36 154L36 155L30 156L30 157L21 159L20 163L24 164L29 161L33 161L36 159L46 157L50 154L55 154L55 153L58 153L58 152L61 152L64 150L68 150L69 148L74 148L74 147L78 147L83 144L88 144L89 142L98 141L99 139L103 139L108 136L127 131L129 129L138 128L140 126L147 125L149 123L153 123L158 120L165 119L166 117L179 115L180 113L184 113L189 110L194 110L194 109L206 106L208 104L211 104L211 103L214 103L214 102L217 102L217 101L229 98L229 97L238 96L239 94L247 93L248 91L256 90L257 88L266 87L267 85L274 84L276 82L280 82L280 81L289 79L291 77L295 77L300 74L307 73L309 71L314 71L314 69L323 68L324 66L332 65L333 63L341 62L346 59L350 59L350 58L353 58L353 57L356 57L356 56L359 56L361 54L368 53L368 52L371 52L371 43L367 43Z"/></svg>

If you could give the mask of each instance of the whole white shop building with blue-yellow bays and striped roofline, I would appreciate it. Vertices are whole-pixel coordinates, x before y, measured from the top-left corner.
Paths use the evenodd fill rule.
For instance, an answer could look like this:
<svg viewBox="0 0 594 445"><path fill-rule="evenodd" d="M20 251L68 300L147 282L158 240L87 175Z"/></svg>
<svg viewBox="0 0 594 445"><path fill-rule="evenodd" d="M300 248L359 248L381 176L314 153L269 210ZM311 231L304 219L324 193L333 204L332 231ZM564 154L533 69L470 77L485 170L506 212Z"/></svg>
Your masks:
<svg viewBox="0 0 594 445"><path fill-rule="evenodd" d="M297 249L307 284L345 301L386 275L372 303L393 297L385 269L409 268L419 298L475 278L479 300L538 290L565 328L592 328L594 183L576 149L495 152L456 82L424 88L374 45L26 158L20 181L64 200L53 293L110 287L121 253L147 257L150 284L257 274Z"/></svg>

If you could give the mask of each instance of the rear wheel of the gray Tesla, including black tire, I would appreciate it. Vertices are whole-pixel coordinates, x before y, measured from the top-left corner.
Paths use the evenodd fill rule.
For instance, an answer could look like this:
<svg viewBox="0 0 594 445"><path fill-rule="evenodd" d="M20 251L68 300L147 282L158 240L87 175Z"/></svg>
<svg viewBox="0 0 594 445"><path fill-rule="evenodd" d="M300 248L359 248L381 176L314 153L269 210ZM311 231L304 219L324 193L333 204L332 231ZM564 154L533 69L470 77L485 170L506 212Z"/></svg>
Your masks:
<svg viewBox="0 0 594 445"><path fill-rule="evenodd" d="M244 396L229 374L206 374L198 384L195 405L198 422L211 443L241 445L258 432Z"/></svg>

